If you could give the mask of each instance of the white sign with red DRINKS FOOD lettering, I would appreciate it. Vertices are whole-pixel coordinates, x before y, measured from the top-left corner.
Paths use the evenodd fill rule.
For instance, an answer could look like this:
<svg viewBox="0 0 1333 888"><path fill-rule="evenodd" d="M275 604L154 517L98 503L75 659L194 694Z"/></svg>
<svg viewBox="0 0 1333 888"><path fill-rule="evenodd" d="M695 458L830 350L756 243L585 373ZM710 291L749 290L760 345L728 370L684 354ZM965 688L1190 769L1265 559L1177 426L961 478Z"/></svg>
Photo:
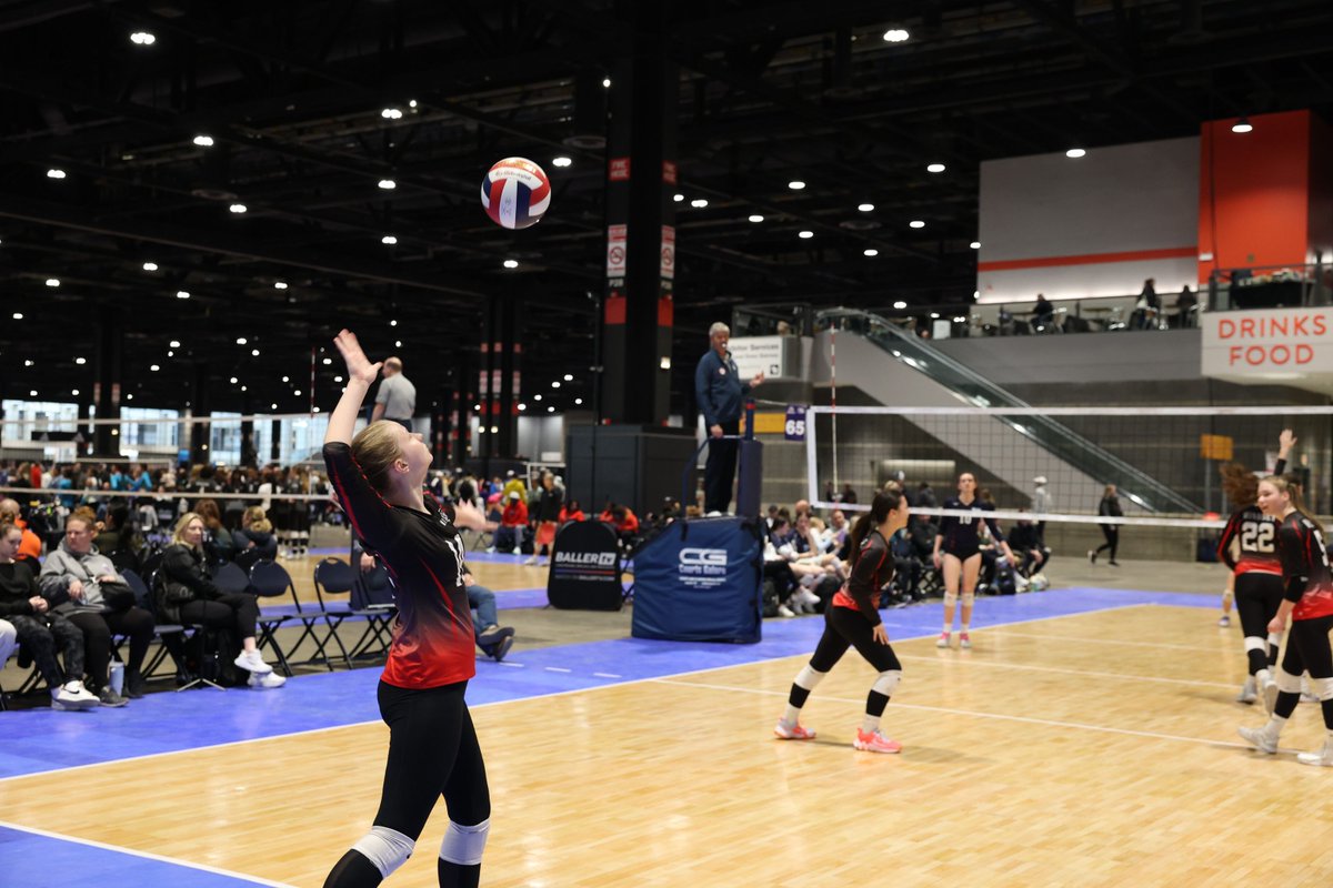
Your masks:
<svg viewBox="0 0 1333 888"><path fill-rule="evenodd" d="M1333 374L1333 308L1205 312L1202 373L1234 382Z"/></svg>

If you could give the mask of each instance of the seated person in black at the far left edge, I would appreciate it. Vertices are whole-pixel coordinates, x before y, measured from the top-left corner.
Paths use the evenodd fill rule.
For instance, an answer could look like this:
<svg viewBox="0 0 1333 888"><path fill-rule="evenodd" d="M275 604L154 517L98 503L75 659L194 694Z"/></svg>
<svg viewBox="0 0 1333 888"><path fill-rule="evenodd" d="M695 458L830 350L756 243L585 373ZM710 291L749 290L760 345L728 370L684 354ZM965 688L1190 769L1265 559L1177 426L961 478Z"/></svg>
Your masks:
<svg viewBox="0 0 1333 888"><path fill-rule="evenodd" d="M0 521L0 630L4 630L0 646L7 647L0 651L0 668L13 651L12 644L21 643L51 688L51 708L75 711L100 706L97 695L83 684L83 632L51 611L32 568L16 558L21 545L23 531ZM57 644L65 656L64 670L56 660Z"/></svg>

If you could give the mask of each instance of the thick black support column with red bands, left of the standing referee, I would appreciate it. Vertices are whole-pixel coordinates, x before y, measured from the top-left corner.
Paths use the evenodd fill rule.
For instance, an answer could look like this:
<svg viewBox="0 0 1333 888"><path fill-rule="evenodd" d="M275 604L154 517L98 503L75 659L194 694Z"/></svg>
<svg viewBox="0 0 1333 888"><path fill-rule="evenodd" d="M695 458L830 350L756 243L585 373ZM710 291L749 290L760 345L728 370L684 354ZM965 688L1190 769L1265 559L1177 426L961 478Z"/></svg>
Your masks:
<svg viewBox="0 0 1333 888"><path fill-rule="evenodd" d="M632 20L633 53L612 75L603 397L612 422L660 425L670 407L680 79L665 52L665 1L635 3Z"/></svg>

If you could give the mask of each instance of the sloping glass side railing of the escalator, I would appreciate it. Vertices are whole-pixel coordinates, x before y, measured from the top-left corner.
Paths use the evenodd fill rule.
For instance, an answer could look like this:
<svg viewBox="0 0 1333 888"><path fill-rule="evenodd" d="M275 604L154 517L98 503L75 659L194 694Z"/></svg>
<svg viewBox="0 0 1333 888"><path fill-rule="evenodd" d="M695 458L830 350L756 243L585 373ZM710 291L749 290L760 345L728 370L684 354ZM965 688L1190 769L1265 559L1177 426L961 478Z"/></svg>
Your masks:
<svg viewBox="0 0 1333 888"><path fill-rule="evenodd" d="M954 361L902 330L886 318L856 309L821 312L820 326L836 325L860 333L904 366L924 373L934 382L957 393L977 407L1030 407L1006 389L997 386L972 367ZM1198 514L1200 506L1161 483L1152 475L1106 451L1066 426L1040 414L1004 415L1002 422L1037 446L1058 457L1100 483L1116 485L1121 498L1154 513Z"/></svg>

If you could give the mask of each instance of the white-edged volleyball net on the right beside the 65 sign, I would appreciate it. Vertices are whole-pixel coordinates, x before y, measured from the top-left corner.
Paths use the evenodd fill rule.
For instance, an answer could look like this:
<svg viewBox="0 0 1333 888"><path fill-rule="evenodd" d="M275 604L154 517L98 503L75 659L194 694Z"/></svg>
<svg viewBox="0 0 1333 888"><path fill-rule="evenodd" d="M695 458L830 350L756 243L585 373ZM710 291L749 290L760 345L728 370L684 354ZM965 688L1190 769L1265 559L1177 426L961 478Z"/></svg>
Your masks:
<svg viewBox="0 0 1333 888"><path fill-rule="evenodd" d="M926 485L942 503L966 471L996 515L1010 522L1032 519L1045 499L1044 521L1084 525L1094 535L1096 525L1109 523L1221 527L1220 515L1233 506L1220 466L1272 471L1278 434L1290 429L1297 442L1286 470L1304 482L1306 505L1326 515L1330 418L1333 406L817 406L806 413L808 497L820 509L860 511L900 479L914 501ZM1097 514L1108 485L1116 486L1124 518ZM856 503L846 502L848 490ZM928 506L914 513L950 514Z"/></svg>

